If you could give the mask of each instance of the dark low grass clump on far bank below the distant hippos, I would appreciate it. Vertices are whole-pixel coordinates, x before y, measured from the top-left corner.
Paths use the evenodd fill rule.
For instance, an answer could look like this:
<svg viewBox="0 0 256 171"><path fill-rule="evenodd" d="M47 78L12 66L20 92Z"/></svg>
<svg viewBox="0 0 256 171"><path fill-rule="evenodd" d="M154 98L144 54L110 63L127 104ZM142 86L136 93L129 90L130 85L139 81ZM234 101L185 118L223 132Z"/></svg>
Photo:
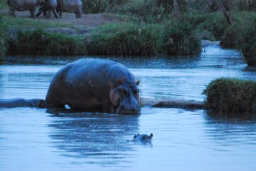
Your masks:
<svg viewBox="0 0 256 171"><path fill-rule="evenodd" d="M42 29L22 30L13 42L13 52L25 55L84 55L87 54L83 40L62 33Z"/></svg>

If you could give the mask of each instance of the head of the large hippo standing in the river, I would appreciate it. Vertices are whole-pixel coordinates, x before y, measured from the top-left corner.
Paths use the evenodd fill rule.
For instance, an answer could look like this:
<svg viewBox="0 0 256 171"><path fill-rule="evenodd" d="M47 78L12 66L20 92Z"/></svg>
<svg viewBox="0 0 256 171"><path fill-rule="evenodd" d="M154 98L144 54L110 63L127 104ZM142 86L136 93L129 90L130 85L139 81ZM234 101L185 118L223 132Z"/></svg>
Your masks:
<svg viewBox="0 0 256 171"><path fill-rule="evenodd" d="M140 114L140 95L137 82L122 82L111 86L110 100L116 114Z"/></svg>

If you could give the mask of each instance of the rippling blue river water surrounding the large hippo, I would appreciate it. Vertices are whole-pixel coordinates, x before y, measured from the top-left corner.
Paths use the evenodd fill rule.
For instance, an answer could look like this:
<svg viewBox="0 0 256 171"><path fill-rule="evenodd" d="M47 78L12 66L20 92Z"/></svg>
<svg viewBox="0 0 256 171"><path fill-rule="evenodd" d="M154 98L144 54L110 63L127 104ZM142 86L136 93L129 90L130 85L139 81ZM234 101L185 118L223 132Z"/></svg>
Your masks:
<svg viewBox="0 0 256 171"><path fill-rule="evenodd" d="M45 98L51 79L78 57L6 57L0 98ZM236 50L196 56L115 58L140 80L145 98L204 100L219 77L256 80ZM129 142L136 133L152 143ZM255 170L256 120L205 110L143 107L140 115L0 108L0 170Z"/></svg>

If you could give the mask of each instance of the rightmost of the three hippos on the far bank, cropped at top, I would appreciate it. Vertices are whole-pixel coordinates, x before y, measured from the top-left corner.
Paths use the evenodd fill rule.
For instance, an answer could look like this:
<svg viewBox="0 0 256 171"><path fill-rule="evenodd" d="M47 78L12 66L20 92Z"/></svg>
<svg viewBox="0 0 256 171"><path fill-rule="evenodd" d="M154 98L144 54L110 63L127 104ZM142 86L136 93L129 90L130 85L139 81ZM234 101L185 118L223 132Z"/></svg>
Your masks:
<svg viewBox="0 0 256 171"><path fill-rule="evenodd" d="M75 13L76 18L82 18L81 0L58 0L57 13L62 17L63 12Z"/></svg>

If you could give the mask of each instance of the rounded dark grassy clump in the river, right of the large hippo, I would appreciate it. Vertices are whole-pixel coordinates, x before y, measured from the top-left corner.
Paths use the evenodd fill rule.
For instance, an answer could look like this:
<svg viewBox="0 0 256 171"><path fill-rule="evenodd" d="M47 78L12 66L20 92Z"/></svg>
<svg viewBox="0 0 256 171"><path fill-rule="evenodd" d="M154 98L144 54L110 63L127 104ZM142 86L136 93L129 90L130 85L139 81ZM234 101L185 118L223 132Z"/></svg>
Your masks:
<svg viewBox="0 0 256 171"><path fill-rule="evenodd" d="M256 112L256 82L218 78L207 85L205 107L214 112Z"/></svg>

